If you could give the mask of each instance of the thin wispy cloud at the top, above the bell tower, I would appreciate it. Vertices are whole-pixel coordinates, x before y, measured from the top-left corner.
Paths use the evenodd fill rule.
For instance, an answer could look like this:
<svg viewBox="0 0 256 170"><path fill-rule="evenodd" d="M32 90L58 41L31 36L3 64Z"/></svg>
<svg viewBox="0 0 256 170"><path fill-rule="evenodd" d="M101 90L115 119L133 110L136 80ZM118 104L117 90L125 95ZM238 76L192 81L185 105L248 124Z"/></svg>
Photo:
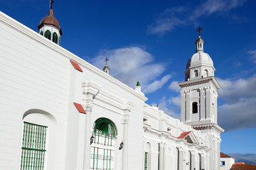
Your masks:
<svg viewBox="0 0 256 170"><path fill-rule="evenodd" d="M203 16L214 13L228 13L231 9L241 6L245 0L207 0L194 7L179 6L164 11L149 26L149 33L161 34L173 30L178 26L198 23L197 20ZM238 17L231 17L238 18Z"/></svg>

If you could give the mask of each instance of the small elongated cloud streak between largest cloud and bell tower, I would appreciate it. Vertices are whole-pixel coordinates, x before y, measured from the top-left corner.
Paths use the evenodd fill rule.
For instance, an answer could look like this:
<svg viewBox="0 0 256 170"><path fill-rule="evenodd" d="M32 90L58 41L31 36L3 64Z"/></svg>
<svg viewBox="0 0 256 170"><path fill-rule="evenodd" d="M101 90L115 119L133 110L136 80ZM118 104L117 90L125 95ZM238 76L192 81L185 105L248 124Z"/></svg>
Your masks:
<svg viewBox="0 0 256 170"><path fill-rule="evenodd" d="M163 78L161 78L161 80L156 80L153 83L149 84L143 91L144 94L149 94L158 89L161 89L161 87L164 86L164 84L166 84L166 82L169 81L169 79L171 79L171 74L164 76Z"/></svg>

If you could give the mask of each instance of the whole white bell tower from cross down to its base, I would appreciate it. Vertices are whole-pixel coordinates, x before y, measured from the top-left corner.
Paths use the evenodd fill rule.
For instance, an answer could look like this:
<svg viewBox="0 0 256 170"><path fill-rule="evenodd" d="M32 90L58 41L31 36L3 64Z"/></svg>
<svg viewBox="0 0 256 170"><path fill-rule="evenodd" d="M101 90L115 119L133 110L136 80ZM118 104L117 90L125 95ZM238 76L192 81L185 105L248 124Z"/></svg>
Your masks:
<svg viewBox="0 0 256 170"><path fill-rule="evenodd" d="M207 135L208 159L213 161L206 169L220 169L220 133L224 132L217 121L220 84L214 77L213 60L203 51L201 30L201 27L197 30L196 53L186 65L185 81L178 83L181 86L181 122Z"/></svg>

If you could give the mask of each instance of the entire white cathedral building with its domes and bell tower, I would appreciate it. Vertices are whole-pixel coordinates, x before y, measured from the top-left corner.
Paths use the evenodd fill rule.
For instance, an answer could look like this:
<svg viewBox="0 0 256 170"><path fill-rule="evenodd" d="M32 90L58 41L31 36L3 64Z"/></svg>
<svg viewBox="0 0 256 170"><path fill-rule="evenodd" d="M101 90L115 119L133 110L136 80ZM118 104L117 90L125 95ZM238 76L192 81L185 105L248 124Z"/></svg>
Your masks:
<svg viewBox="0 0 256 170"><path fill-rule="evenodd" d="M61 47L52 9L38 30L0 12L1 170L220 169L220 85L200 35L180 121Z"/></svg>

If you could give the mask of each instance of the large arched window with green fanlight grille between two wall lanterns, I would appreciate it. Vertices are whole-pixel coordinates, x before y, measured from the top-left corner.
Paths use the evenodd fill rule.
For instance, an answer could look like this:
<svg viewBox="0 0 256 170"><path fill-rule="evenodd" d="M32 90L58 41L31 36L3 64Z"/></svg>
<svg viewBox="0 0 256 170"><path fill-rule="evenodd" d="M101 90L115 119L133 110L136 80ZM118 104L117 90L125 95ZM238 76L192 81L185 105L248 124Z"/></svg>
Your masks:
<svg viewBox="0 0 256 170"><path fill-rule="evenodd" d="M114 169L114 142L116 136L117 129L111 120L100 118L95 121L93 137L91 137L90 169Z"/></svg>

